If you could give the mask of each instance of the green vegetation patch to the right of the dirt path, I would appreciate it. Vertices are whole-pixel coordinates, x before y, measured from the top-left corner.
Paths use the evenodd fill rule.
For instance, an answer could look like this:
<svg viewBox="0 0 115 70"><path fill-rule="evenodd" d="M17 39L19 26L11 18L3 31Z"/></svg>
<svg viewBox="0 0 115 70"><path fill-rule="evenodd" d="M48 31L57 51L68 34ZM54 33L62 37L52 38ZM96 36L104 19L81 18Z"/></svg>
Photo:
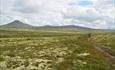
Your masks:
<svg viewBox="0 0 115 70"><path fill-rule="evenodd" d="M94 34L93 39L96 43L103 45L103 49L115 56L115 33Z"/></svg>

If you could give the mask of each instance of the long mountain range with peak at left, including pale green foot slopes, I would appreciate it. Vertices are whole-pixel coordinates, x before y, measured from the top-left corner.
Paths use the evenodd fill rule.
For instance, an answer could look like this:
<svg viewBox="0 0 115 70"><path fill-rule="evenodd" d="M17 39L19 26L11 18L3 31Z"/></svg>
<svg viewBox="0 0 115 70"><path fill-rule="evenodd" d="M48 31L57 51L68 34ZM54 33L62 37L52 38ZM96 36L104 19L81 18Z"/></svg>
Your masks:
<svg viewBox="0 0 115 70"><path fill-rule="evenodd" d="M111 29L92 29L92 28L87 28L87 27L82 27L82 26L75 26L75 25L65 25L65 26L32 26L29 24L25 24L19 20L15 20L13 22L10 22L5 25L1 25L0 28L16 28L16 29L53 29L53 30L77 30L77 31L115 31Z"/></svg>

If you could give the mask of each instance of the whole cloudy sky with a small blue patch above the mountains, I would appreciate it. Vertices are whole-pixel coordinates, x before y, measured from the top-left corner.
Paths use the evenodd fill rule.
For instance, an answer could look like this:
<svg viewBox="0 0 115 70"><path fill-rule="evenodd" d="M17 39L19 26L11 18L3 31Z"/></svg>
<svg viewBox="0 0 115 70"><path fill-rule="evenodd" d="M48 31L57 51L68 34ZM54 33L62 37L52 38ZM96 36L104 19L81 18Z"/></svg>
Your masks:
<svg viewBox="0 0 115 70"><path fill-rule="evenodd" d="M0 25L14 20L115 29L115 0L0 0Z"/></svg>

